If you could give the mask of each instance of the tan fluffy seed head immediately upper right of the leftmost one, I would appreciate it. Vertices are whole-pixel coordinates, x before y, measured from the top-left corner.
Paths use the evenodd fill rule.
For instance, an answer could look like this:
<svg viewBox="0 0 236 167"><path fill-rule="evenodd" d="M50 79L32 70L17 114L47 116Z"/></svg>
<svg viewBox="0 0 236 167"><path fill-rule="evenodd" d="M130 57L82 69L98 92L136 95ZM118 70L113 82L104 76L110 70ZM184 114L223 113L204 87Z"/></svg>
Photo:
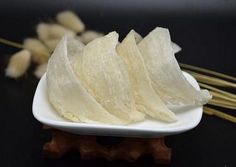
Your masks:
<svg viewBox="0 0 236 167"><path fill-rule="evenodd" d="M50 52L46 46L35 38L27 38L24 40L24 47L32 52L32 61L42 64L48 61Z"/></svg>

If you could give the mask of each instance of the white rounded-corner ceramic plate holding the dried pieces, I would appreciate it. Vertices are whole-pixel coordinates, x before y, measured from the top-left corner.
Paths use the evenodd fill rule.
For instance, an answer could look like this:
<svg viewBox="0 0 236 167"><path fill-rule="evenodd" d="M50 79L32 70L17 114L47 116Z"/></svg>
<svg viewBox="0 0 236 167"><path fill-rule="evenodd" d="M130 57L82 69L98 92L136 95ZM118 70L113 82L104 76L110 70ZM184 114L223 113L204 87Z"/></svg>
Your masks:
<svg viewBox="0 0 236 167"><path fill-rule="evenodd" d="M196 89L200 89L197 81L190 74L184 72L184 76ZM196 107L178 112L176 113L178 121L175 123L164 123L150 119L129 125L70 122L61 118L49 103L46 75L39 81L33 100L33 115L38 121L56 129L83 135L144 138L173 135L196 127L201 120L202 111L202 107Z"/></svg>

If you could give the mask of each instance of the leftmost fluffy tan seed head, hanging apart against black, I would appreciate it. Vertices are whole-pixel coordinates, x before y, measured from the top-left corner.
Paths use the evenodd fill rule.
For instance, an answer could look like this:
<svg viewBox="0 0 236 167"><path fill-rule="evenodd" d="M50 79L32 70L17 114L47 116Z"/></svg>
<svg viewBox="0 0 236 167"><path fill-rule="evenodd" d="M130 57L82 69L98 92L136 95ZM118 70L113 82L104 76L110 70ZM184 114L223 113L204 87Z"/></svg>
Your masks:
<svg viewBox="0 0 236 167"><path fill-rule="evenodd" d="M6 76L10 78L18 78L22 76L30 65L30 58L30 52L25 49L12 55L6 68Z"/></svg>

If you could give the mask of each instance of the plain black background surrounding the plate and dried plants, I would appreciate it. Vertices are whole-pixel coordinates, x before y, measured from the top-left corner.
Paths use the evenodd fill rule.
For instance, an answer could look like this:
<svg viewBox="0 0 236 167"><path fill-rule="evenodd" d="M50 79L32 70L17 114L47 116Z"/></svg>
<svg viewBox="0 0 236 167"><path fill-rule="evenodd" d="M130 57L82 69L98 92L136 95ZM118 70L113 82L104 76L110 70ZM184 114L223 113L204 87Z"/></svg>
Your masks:
<svg viewBox="0 0 236 167"><path fill-rule="evenodd" d="M116 30L120 39L132 28L145 35L156 26L168 27L172 40L183 49L177 55L180 62L236 76L233 0L0 1L0 36L22 42L25 37L35 36L38 22L53 20L57 12L65 9L77 12L88 29L105 33ZM50 135L42 130L31 110L38 83L32 75L34 67L17 80L4 76L9 56L16 51L0 45L0 166L155 166L151 158L135 163L81 160L79 155L46 159L42 146ZM235 124L204 115L194 130L166 138L173 149L170 166L234 167L235 141Z"/></svg>

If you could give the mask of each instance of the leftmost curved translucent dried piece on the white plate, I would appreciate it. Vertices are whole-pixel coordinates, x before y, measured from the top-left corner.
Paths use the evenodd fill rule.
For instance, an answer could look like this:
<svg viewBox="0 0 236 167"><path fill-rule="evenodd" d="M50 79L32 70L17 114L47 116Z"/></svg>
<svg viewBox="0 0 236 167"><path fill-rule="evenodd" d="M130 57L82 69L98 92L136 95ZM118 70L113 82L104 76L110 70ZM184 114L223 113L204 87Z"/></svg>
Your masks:
<svg viewBox="0 0 236 167"><path fill-rule="evenodd" d="M83 44L64 37L52 54L47 68L48 97L63 117L86 123L124 124L104 109L82 86L72 60Z"/></svg>

